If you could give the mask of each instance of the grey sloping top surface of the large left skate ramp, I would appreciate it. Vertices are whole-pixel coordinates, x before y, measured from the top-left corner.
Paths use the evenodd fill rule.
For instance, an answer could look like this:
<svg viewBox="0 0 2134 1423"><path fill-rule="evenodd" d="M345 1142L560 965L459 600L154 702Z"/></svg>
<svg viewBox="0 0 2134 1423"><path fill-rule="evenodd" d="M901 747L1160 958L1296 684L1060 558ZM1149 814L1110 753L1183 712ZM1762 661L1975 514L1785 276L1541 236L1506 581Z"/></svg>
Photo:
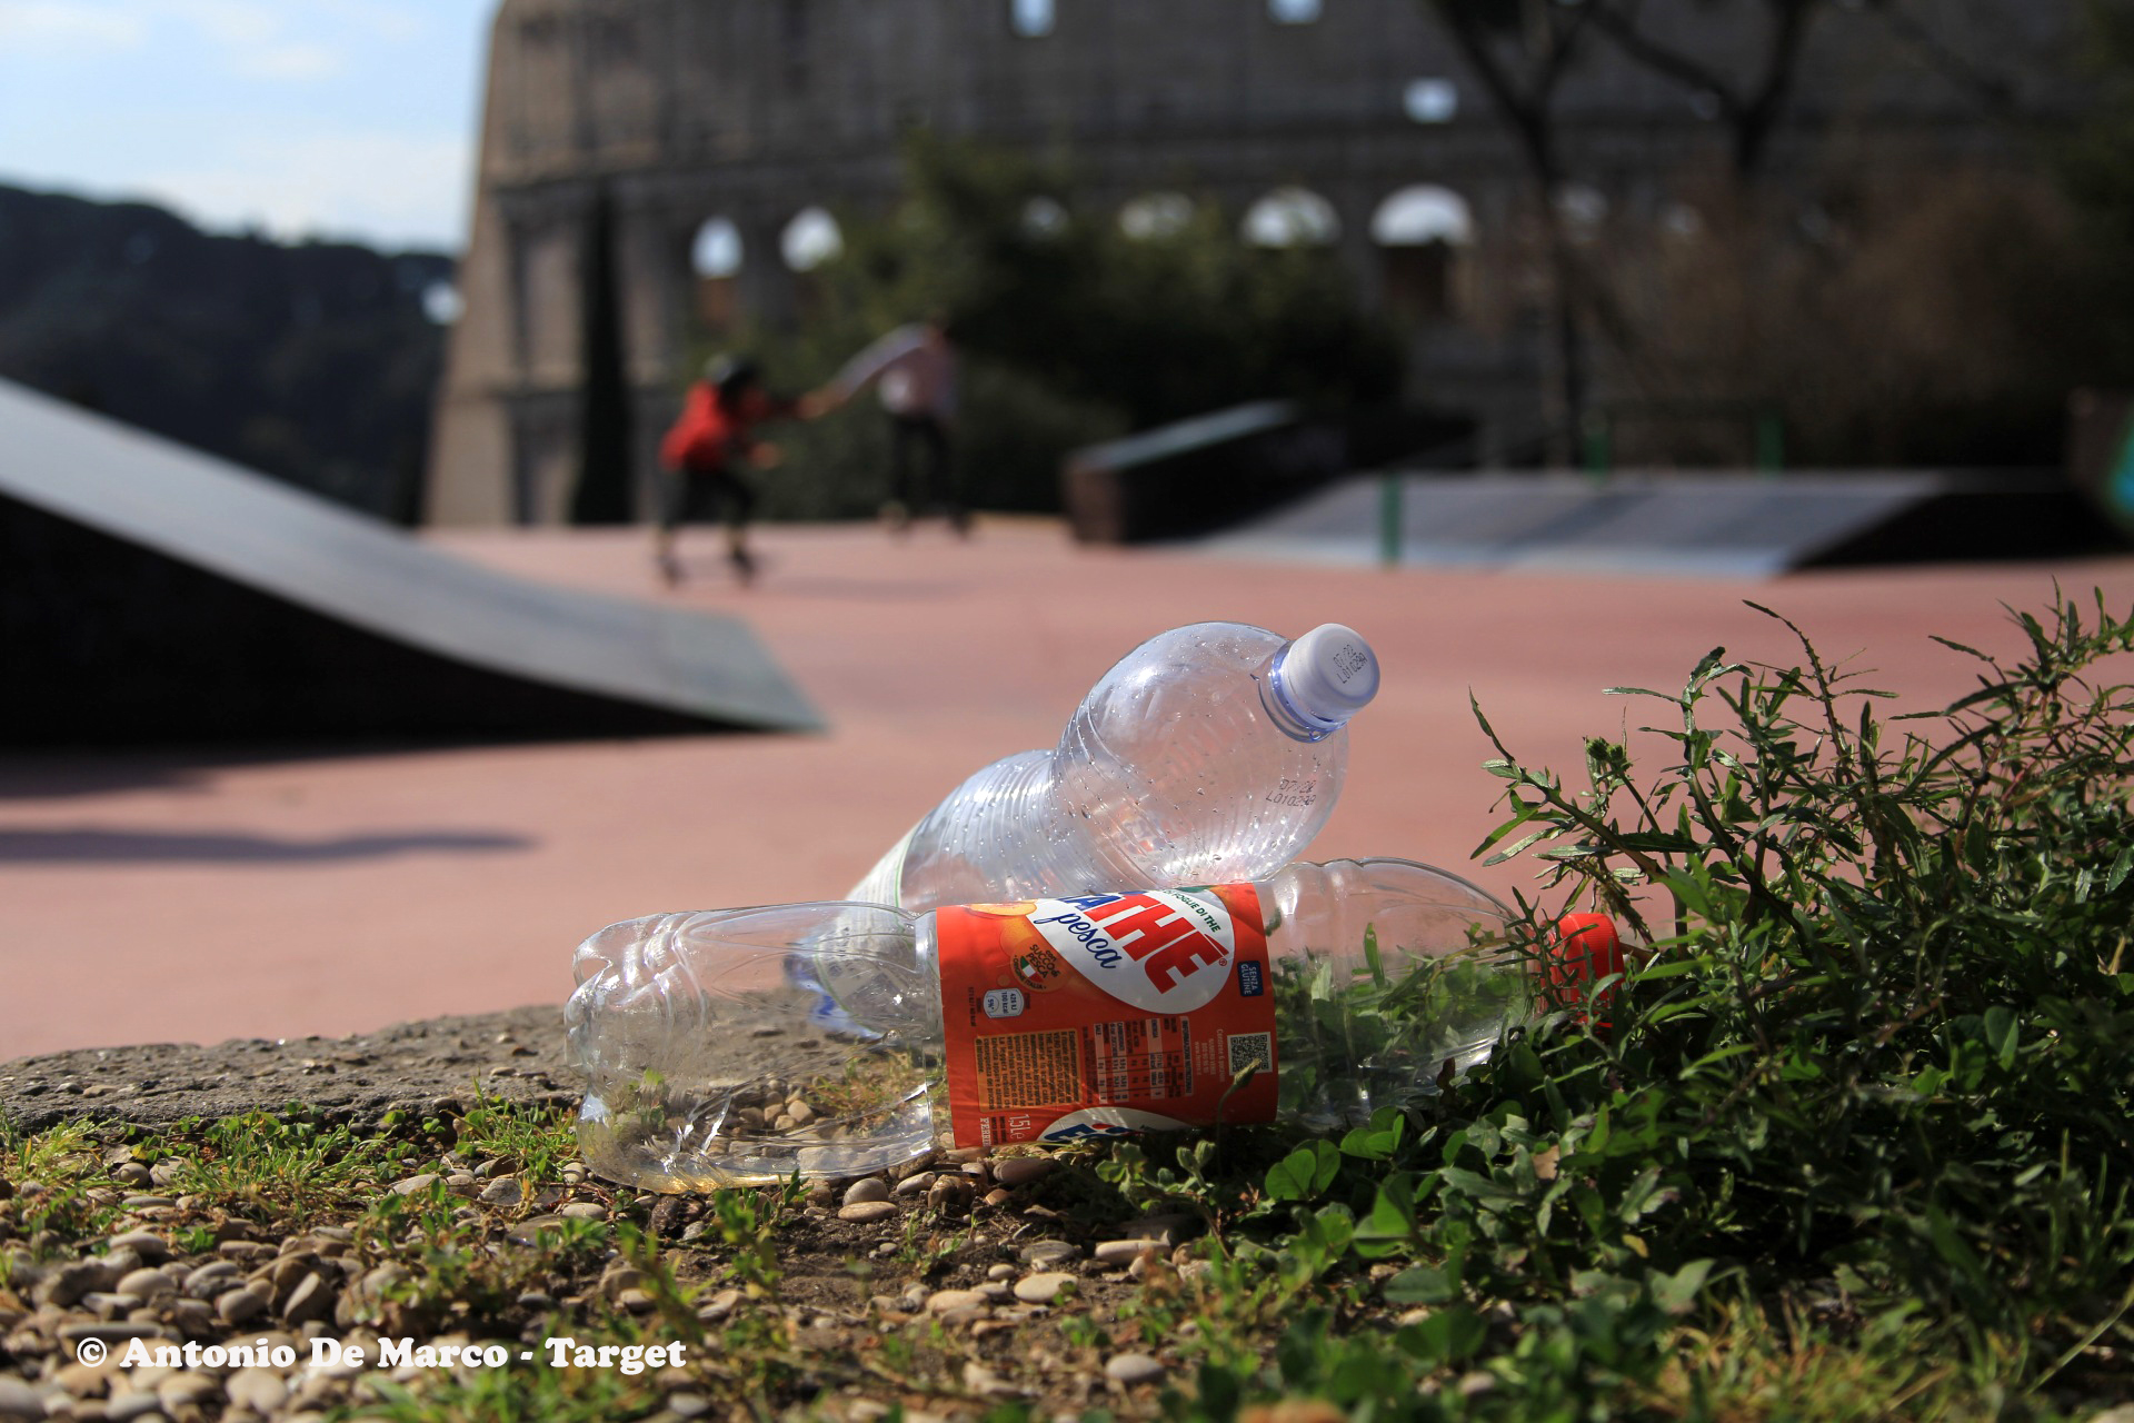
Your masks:
<svg viewBox="0 0 2134 1423"><path fill-rule="evenodd" d="M824 728L738 619L493 572L11 382L0 497L482 672L728 725Z"/></svg>

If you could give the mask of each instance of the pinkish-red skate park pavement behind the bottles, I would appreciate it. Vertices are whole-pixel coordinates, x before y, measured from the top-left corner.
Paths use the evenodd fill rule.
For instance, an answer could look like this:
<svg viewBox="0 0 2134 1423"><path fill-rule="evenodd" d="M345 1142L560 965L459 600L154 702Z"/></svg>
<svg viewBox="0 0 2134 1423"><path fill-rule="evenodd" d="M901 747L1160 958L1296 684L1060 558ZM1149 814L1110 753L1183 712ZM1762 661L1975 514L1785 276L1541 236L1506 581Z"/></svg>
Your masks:
<svg viewBox="0 0 2134 1423"><path fill-rule="evenodd" d="M435 533L463 557L747 619L830 721L811 736L391 753L0 757L0 1058L62 1048L339 1035L559 1003L587 932L662 909L837 898L977 766L1056 740L1142 638L1233 619L1323 621L1379 649L1351 779L1317 860L1406 856L1511 892L1536 866L1477 868L1502 783L1472 693L1530 764L1577 781L1581 736L1665 706L1709 649L1793 663L1763 602L1831 659L1925 710L1972 685L1942 634L2012 655L2002 604L2053 580L2134 604L2134 557L1799 574L1763 582L1340 570L1191 550L1078 548L1052 521L766 527L734 585L717 535L694 574L651 576L642 531ZM1643 751L1665 755L1645 738Z"/></svg>

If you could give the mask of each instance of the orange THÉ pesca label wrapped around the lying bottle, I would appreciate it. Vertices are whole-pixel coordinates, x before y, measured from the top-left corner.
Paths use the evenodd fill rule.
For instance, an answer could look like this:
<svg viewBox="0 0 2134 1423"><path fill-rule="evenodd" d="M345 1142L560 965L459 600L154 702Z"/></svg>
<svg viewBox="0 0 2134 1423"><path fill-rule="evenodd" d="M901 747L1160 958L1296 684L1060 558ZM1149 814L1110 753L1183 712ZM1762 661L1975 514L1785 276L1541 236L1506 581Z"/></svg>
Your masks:
<svg viewBox="0 0 2134 1423"><path fill-rule="evenodd" d="M939 909L935 947L956 1146L1274 1120L1253 885Z"/></svg>

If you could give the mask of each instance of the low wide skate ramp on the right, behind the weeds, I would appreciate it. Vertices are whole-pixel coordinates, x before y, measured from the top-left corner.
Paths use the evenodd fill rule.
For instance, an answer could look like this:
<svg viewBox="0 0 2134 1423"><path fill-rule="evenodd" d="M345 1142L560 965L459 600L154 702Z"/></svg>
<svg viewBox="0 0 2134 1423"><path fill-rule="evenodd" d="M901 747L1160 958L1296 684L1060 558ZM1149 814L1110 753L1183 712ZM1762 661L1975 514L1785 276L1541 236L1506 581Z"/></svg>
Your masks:
<svg viewBox="0 0 2134 1423"><path fill-rule="evenodd" d="M1387 478L1408 565L1765 578L1831 563L2044 557L2106 540L2049 474ZM1359 476L1199 546L1374 563L1385 557L1391 506L1383 478Z"/></svg>

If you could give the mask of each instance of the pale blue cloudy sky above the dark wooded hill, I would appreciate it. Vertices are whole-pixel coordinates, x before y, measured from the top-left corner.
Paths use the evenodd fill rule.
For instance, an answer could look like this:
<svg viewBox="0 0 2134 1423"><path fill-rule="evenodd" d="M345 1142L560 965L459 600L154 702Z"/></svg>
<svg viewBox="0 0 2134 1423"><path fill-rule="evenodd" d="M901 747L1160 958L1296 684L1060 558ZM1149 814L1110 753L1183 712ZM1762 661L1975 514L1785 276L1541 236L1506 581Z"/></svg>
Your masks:
<svg viewBox="0 0 2134 1423"><path fill-rule="evenodd" d="M0 183L459 252L495 0L0 0Z"/></svg>

